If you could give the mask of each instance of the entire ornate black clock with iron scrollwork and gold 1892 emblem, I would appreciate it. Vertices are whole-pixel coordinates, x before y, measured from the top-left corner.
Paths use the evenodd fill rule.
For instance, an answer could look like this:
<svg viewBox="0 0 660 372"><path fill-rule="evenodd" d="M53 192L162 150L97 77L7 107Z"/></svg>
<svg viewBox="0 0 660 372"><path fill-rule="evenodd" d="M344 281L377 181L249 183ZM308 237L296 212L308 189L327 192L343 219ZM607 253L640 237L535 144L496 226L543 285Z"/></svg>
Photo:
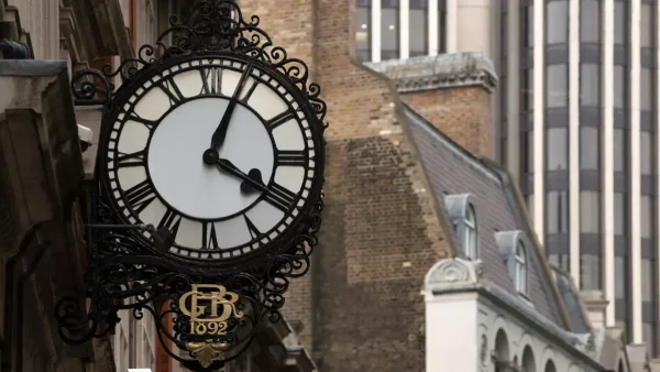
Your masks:
<svg viewBox="0 0 660 372"><path fill-rule="evenodd" d="M264 318L279 318L289 278L309 267L326 103L306 64L274 46L257 17L245 21L234 0L188 10L116 72L74 76L77 105L103 105L91 305L82 324L73 321L74 298L56 315L65 341L79 343L110 331L119 309L150 311L158 339L191 357L172 358L215 371L248 348Z"/></svg>

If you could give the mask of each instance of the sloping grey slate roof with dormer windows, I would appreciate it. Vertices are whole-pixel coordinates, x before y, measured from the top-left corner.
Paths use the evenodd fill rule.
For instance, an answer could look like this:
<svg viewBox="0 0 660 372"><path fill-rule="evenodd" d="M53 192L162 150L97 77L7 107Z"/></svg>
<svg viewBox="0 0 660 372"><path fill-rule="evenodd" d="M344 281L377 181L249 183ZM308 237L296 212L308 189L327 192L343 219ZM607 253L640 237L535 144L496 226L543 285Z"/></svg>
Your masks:
<svg viewBox="0 0 660 372"><path fill-rule="evenodd" d="M438 200L439 212L443 215L441 217L449 218L444 196L471 194L476 211L479 259L483 262L484 277L488 285L495 285L515 297L519 296L495 241L495 233L520 230L531 238L532 232L527 231L528 225L524 220L526 215L519 210L515 196L506 186L507 174L466 152L409 107L405 107L404 113L431 192ZM457 238L453 238L455 241ZM454 247L460 247L458 241ZM546 259L537 255L541 250L528 248L527 251L529 302L548 320L563 329L570 329L562 320L559 305L554 300L553 280L541 266Z"/></svg>

